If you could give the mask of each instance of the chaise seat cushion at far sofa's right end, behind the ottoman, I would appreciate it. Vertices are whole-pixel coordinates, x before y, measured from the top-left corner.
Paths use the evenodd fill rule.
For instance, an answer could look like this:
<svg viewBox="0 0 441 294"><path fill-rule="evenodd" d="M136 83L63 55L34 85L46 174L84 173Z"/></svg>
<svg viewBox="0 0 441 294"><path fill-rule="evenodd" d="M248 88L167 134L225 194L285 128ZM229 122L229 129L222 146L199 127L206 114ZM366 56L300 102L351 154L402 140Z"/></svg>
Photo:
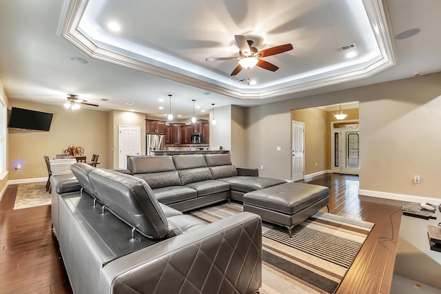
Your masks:
<svg viewBox="0 0 441 294"><path fill-rule="evenodd" d="M232 190L244 193L259 189L265 189L286 182L285 180L279 180L277 178L265 178L255 176L235 176L231 178L220 178L218 180L228 182Z"/></svg>

